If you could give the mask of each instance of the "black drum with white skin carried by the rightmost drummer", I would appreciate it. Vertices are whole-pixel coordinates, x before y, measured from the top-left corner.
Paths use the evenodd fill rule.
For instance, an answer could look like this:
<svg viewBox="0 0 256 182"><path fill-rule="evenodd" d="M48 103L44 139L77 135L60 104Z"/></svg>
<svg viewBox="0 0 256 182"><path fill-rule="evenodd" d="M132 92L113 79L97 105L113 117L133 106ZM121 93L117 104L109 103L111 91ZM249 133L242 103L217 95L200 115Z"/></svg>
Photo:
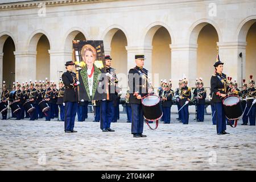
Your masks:
<svg viewBox="0 0 256 182"><path fill-rule="evenodd" d="M243 109L240 98L238 96L232 95L225 97L222 102L226 118L236 120L241 117L241 115L243 114Z"/></svg>

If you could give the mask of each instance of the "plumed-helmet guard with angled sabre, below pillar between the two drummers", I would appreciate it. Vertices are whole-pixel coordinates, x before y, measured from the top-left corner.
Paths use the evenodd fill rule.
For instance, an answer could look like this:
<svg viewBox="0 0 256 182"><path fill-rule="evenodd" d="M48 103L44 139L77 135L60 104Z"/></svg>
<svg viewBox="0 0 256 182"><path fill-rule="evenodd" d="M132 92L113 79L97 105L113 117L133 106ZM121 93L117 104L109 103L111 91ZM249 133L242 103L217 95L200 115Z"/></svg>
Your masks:
<svg viewBox="0 0 256 182"><path fill-rule="evenodd" d="M183 125L188 124L188 119L189 119L188 102L191 99L191 88L188 88L187 84L188 84L188 81L184 77L182 80L182 85L181 85L182 87L181 87L181 93L180 93L180 107L182 107L180 112L181 112L181 121Z"/></svg>

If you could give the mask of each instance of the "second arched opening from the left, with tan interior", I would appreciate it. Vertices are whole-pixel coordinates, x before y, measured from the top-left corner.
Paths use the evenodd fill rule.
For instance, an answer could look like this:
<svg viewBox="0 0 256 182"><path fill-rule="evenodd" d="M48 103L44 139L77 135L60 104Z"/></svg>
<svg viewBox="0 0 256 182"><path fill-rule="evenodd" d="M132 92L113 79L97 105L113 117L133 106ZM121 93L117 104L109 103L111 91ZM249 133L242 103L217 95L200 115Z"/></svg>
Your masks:
<svg viewBox="0 0 256 182"><path fill-rule="evenodd" d="M50 71L50 56L48 50L50 49L49 40L46 35L42 35L36 46L36 80L44 80L49 78Z"/></svg>

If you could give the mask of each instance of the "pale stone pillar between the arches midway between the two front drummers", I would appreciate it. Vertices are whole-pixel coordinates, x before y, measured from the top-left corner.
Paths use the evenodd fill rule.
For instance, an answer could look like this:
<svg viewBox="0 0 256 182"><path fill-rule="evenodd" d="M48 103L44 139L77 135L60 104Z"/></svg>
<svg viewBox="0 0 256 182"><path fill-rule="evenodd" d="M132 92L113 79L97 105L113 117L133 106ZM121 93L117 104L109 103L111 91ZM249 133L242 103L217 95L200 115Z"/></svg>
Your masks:
<svg viewBox="0 0 256 182"><path fill-rule="evenodd" d="M177 88L183 75L188 86L195 85L197 76L197 45L171 44L171 78L173 88Z"/></svg>

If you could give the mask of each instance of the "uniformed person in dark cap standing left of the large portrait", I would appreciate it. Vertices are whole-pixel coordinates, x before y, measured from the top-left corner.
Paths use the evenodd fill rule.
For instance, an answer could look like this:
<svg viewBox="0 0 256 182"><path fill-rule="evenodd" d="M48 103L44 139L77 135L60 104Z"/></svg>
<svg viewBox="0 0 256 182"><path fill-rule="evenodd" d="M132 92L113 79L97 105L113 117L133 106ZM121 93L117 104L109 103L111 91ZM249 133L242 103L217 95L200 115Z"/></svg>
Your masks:
<svg viewBox="0 0 256 182"><path fill-rule="evenodd" d="M62 80L65 85L65 92L63 102L65 103L65 133L76 133L73 130L75 125L76 109L77 109L77 85L80 84L77 81L76 73L73 72L75 63L73 61L67 61L65 66L67 72L63 73Z"/></svg>

